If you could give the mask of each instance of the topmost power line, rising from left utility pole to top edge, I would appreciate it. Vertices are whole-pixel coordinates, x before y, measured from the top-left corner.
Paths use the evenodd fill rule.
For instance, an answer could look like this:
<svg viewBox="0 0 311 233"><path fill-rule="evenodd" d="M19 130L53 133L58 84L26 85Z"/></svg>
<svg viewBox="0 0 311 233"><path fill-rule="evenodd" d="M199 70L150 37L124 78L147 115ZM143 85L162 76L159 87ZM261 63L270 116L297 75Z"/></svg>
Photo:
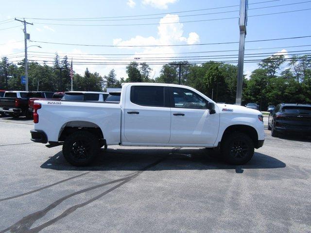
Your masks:
<svg viewBox="0 0 311 233"><path fill-rule="evenodd" d="M260 2L248 3L248 5L261 4L261 3L274 2L274 1L279 1L279 0L260 1ZM88 17L88 18L30 18L30 17L28 17L28 18L26 18L26 19L69 20L69 19L100 19L100 18L123 18L123 17L160 16L160 15L167 15L167 14L177 14L177 13L186 13L186 12L196 12L196 11L206 11L206 10L223 9L223 8L229 8L229 7L240 7L240 5L213 7L213 8L205 8L205 9L197 9L197 10L189 10L189 11L166 12L166 13L159 13L159 14L135 15L135 16Z"/></svg>

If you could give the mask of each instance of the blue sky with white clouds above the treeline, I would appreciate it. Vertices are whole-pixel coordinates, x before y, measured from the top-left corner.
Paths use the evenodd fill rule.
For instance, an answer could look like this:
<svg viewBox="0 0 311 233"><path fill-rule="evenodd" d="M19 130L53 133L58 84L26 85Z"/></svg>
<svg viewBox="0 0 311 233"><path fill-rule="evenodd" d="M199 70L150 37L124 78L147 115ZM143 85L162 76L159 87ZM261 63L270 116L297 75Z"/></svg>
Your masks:
<svg viewBox="0 0 311 233"><path fill-rule="evenodd" d="M284 11L294 11L311 8L311 1L307 0L277 0L260 4L251 4L267 0L249 0L248 15L260 15ZM276 5L299 3L301 4L278 6ZM0 21L7 20L13 17L29 17L29 18L88 18L88 17L117 17L117 16L135 16L148 14L163 14L156 16L154 19L142 20L124 20L124 21L59 21L59 20L42 20L42 19L27 19L33 22L34 25L28 25L27 32L31 34L31 40L47 41L57 43L72 43L72 44L93 44L93 45L176 45L188 44L183 47L144 47L144 48L120 48L120 47L83 47L69 45L55 45L29 42L31 45L40 45L42 49L32 47L29 48L30 59L51 60L51 58L39 58L39 53L32 51L51 52L41 54L44 56L52 56L52 53L75 53L68 55L78 59L88 57L93 58L94 55L86 54L136 54L136 55L119 55L115 56L116 60L125 59L133 60L134 57L163 57L163 56L190 56L191 54L176 54L178 52L201 52L211 50L237 50L239 44L223 44L223 45L203 45L196 46L198 43L217 43L217 42L234 42L239 41L238 18L223 19L214 21L188 22L190 20L205 20L224 17L238 17L239 7L229 7L214 10L195 11L188 13L174 13L179 11L190 11L206 8L224 7L239 5L240 0L15 0L5 1L1 4ZM269 7L270 6L270 7ZM258 7L268 7L264 9L254 9ZM183 17L185 15L218 13L225 11L236 11L229 13L219 13L211 15L201 15L192 17ZM298 11L285 14L276 14L260 17L249 17L247 26L246 41L273 39L282 37L306 36L311 35L310 27L310 10ZM130 19L135 17L129 17ZM128 18L128 19L129 19ZM136 17L145 18L145 17ZM124 19L124 18L113 18ZM98 19L97 19L98 20ZM103 19L102 19L103 20ZM172 24L163 24L165 22L174 22ZM0 22L0 29L15 27L12 29L0 30L0 44L11 43L14 41L23 40L23 33L20 30L22 24L17 21ZM138 23L153 23L155 25L140 25L140 26L62 26L52 24L80 24L80 25L99 25L99 24L138 24ZM295 51L295 50L311 50L309 47L285 48L288 46L300 46L311 44L309 38L277 40L265 42L253 42L245 44L245 54L269 52L274 54L279 51ZM0 56L23 51L23 42L11 43L0 46ZM270 50L251 50L280 47L279 49ZM158 53L159 55L140 55L141 53ZM172 53L165 55L163 53ZM215 53L196 53L192 55L224 55L237 54L237 51L231 52L215 52ZM81 55L79 55L81 54ZM284 53L286 55L286 53ZM10 60L19 60L23 53L10 55ZM61 54L63 56L63 54ZM96 59L111 59L109 55L98 55ZM264 57L262 57L264 58ZM245 58L246 59L246 58ZM209 59L207 59L209 60ZM224 60L224 59L222 59ZM235 59L228 59L235 60ZM236 59L237 60L237 59ZM78 61L78 60L76 60ZM204 61L204 60L200 60ZM99 65L74 65L74 70L77 73L83 73L88 67L90 71L98 71L101 75L105 75L110 69L114 68L118 78L125 77L125 66L99 66ZM151 66L154 71L152 76L158 75L160 65ZM245 63L244 73L250 74L257 67L256 63Z"/></svg>

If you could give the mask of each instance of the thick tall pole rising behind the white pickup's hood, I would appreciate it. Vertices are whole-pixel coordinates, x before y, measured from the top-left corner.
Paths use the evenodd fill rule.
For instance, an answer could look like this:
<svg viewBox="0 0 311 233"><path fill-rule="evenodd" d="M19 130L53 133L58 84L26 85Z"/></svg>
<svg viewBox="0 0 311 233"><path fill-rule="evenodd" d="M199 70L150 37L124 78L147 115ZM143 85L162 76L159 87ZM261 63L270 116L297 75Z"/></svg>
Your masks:
<svg viewBox="0 0 311 233"><path fill-rule="evenodd" d="M248 0L241 0L240 3L240 45L239 45L239 60L238 60L238 80L237 80L237 95L235 99L236 105L242 104L242 85L243 85L243 64L244 64L244 46L247 25L247 9Z"/></svg>

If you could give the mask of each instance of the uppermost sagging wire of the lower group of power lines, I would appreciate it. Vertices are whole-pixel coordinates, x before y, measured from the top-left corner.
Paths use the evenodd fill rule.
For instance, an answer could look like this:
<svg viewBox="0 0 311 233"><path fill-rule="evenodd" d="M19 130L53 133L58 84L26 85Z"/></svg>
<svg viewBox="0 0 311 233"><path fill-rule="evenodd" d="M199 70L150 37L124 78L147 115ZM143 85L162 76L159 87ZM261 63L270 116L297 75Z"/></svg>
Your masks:
<svg viewBox="0 0 311 233"><path fill-rule="evenodd" d="M261 42L261 41L274 41L274 40L288 40L288 39L299 39L307 38L307 36L296 36L296 37L286 37L286 38L277 38L277 39L265 39L265 40L249 40L245 42ZM239 42L218 42L218 43L202 43L202 44L192 44L192 45L86 45L86 44L70 44L70 43L57 43L57 42L48 42L48 41L36 41L30 40L31 42L36 43L45 43L45 44L55 44L55 45L73 45L73 46L93 46L93 47L173 47L173 46L198 46L198 45L223 45L223 44L236 44Z"/></svg>

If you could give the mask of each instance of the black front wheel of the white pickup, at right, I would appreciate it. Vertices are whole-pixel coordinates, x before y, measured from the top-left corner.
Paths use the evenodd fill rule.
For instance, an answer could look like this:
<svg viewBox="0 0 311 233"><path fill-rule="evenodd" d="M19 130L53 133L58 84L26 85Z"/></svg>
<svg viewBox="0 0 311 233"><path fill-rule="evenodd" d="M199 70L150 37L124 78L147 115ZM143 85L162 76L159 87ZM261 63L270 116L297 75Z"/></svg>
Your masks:
<svg viewBox="0 0 311 233"><path fill-rule="evenodd" d="M254 148L254 142L247 134L235 132L225 137L221 152L229 164L243 165L253 157Z"/></svg>

